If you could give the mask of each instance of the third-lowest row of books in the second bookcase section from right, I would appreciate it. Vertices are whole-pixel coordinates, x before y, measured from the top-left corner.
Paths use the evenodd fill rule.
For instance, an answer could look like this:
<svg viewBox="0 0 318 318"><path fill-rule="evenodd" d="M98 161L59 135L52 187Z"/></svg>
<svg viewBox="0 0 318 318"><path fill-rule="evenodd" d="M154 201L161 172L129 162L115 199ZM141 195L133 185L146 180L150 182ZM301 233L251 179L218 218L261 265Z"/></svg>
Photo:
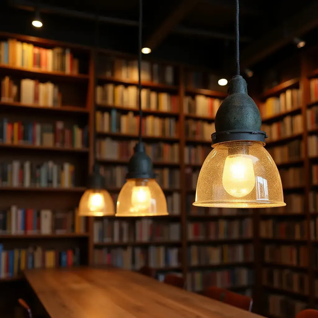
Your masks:
<svg viewBox="0 0 318 318"><path fill-rule="evenodd" d="M264 246L264 261L288 266L308 266L308 247L270 244Z"/></svg>

